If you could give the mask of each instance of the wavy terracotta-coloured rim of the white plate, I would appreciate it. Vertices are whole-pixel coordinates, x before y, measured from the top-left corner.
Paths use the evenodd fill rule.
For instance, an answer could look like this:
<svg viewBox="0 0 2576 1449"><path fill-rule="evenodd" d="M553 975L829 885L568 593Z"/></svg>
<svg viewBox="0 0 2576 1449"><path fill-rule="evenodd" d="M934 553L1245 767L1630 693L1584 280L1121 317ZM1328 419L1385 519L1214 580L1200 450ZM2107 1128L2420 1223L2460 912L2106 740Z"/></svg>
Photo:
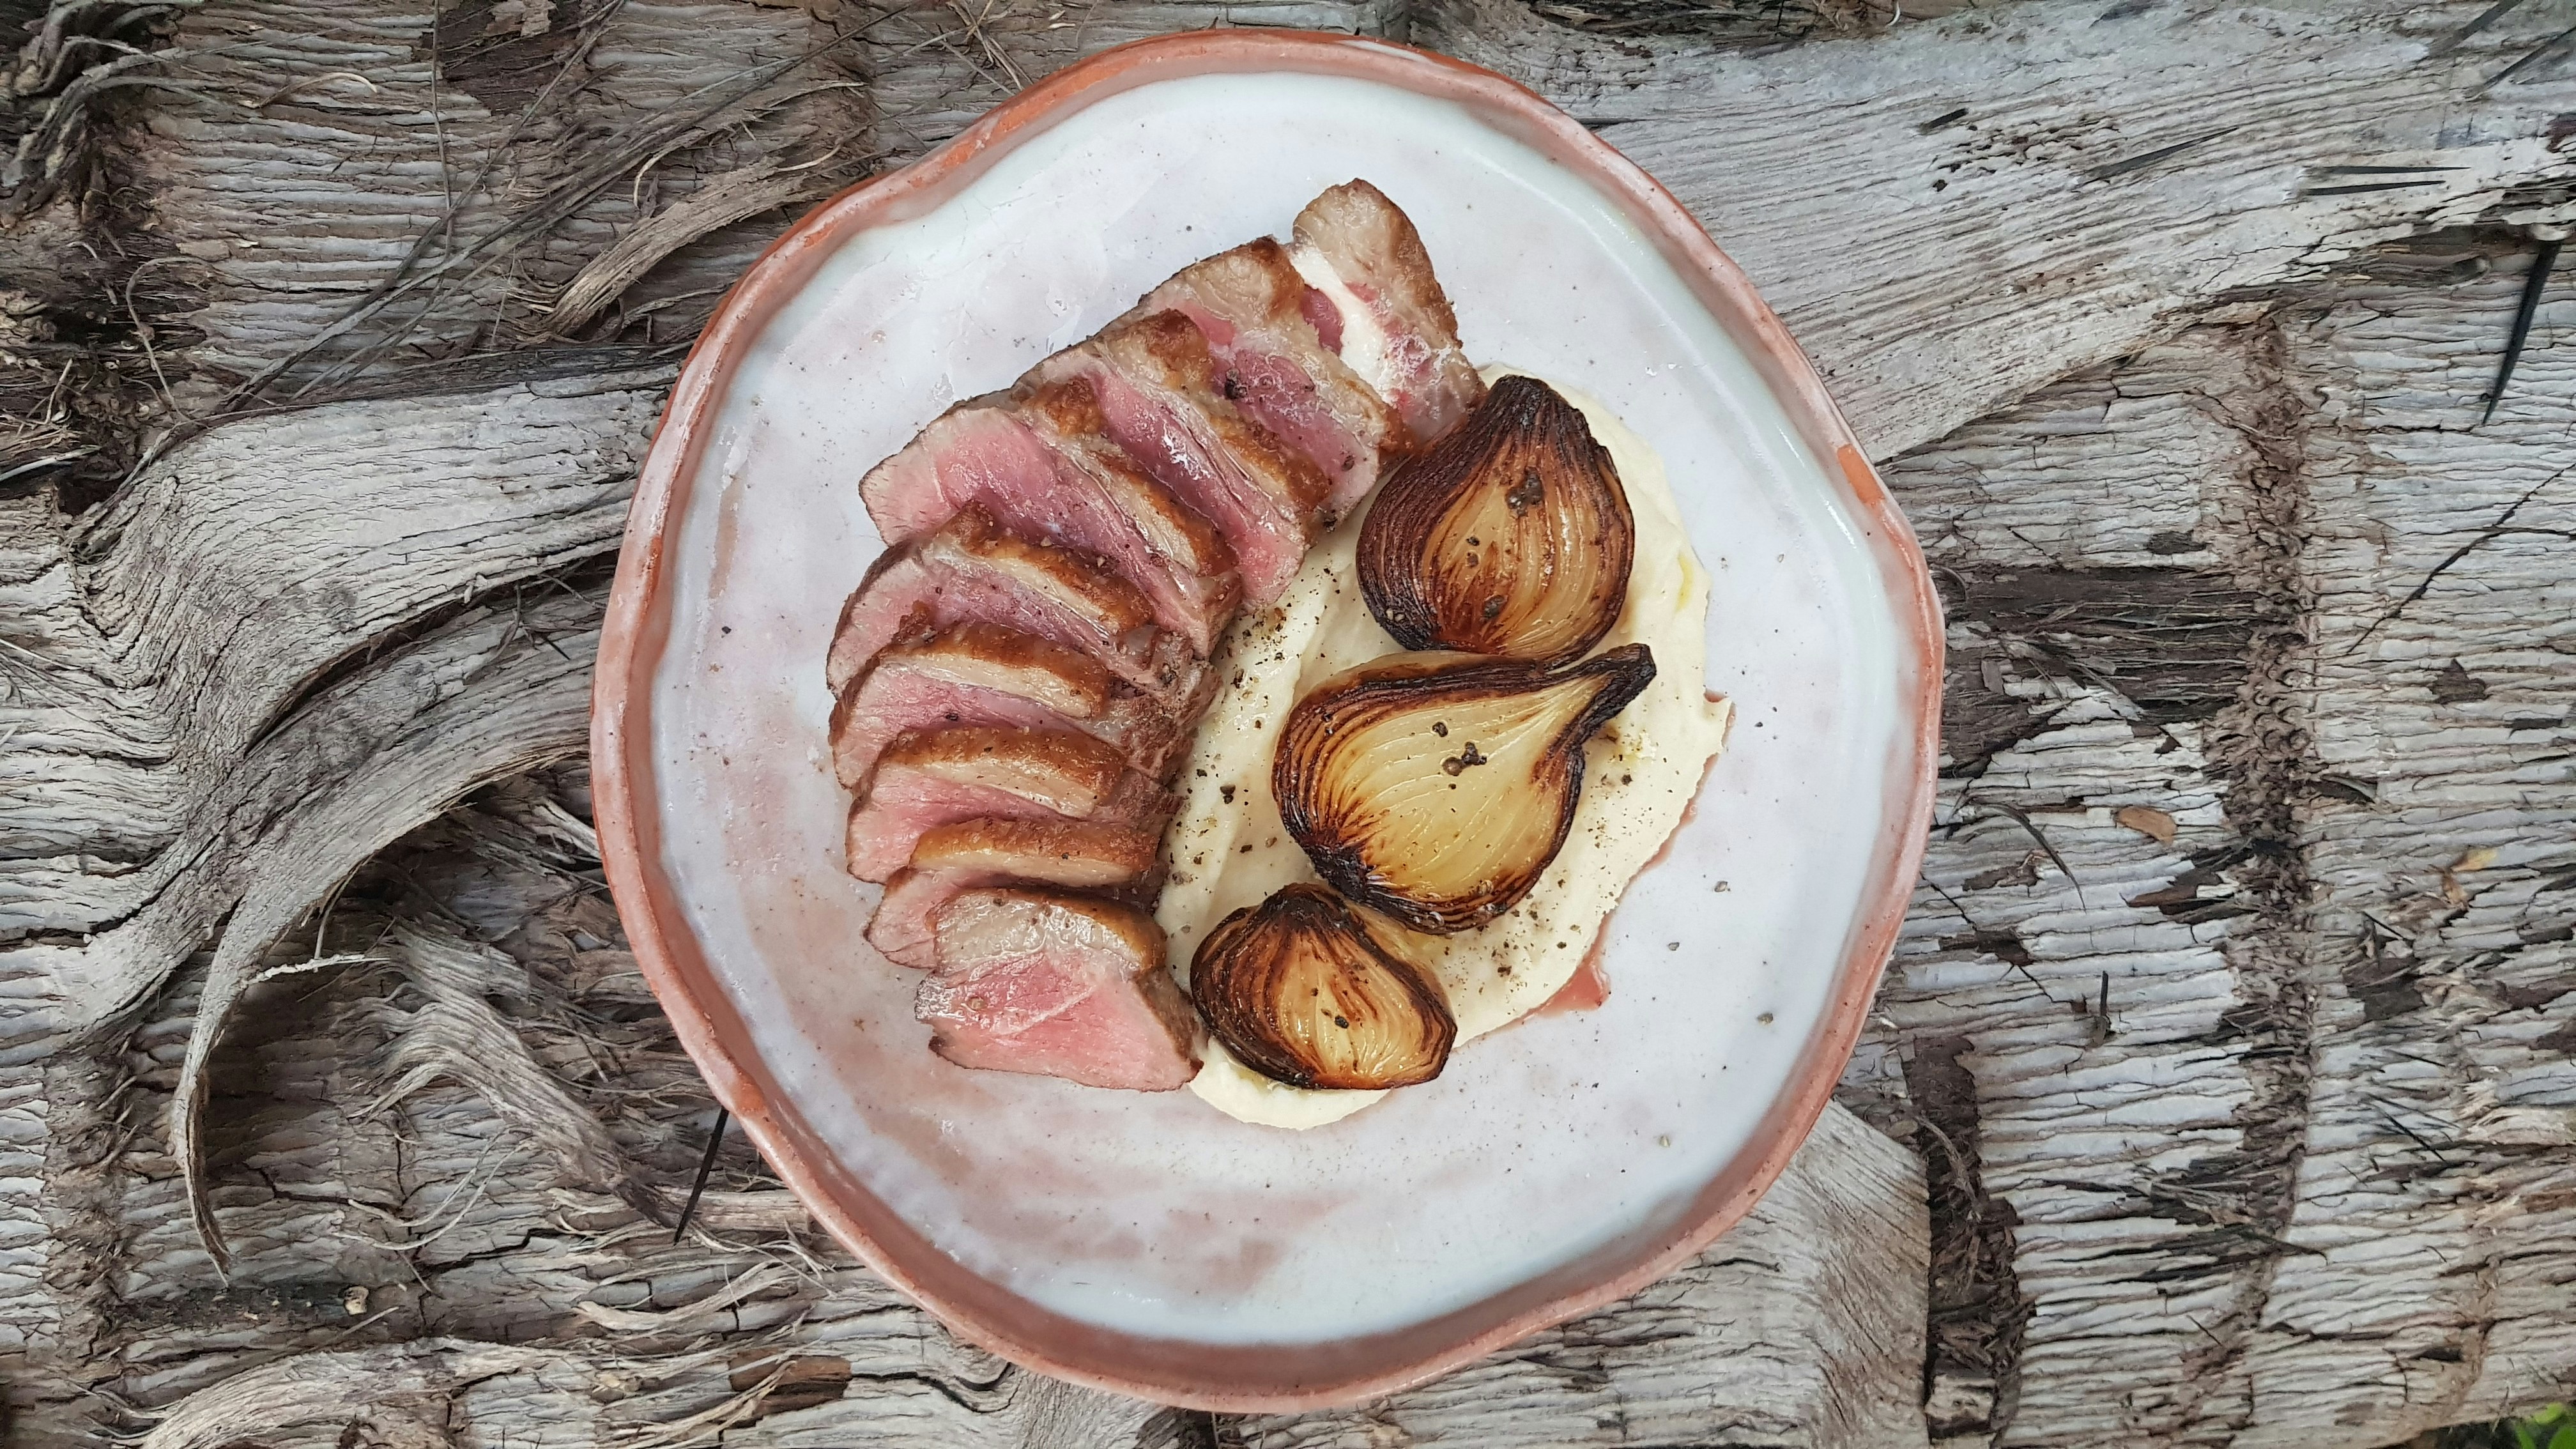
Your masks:
<svg viewBox="0 0 2576 1449"><path fill-rule="evenodd" d="M750 1049L747 1026L698 954L675 892L662 877L649 810L654 799L649 696L667 639L665 544L677 500L696 474L708 428L744 353L840 242L940 206L1015 144L1108 95L1190 75L1283 70L1373 80L1461 103L1479 121L1587 178L1636 222L1744 348L1806 446L1832 462L1826 477L1839 474L1844 482L1844 503L1870 536L1888 590L1906 676L1899 681L1899 719L1906 730L1888 771L1891 794L1870 879L1860 895L1857 931L1837 967L1829 1006L1747 1145L1682 1214L1430 1323L1332 1346L1244 1348L1141 1338L1043 1310L966 1274L832 1160ZM1924 820L1932 812L1940 681L1940 598L1911 529L1806 353L1662 183L1528 88L1450 57L1324 31L1188 31L1131 41L1061 70L997 106L920 162L824 201L778 237L724 297L680 369L626 518L592 694L592 802L608 887L644 980L716 1101L742 1119L768 1163L832 1238L961 1338L1015 1364L1182 1408L1283 1413L1378 1397L1592 1312L1669 1274L1752 1212L1832 1098L1878 975L1896 946L1922 864Z"/></svg>

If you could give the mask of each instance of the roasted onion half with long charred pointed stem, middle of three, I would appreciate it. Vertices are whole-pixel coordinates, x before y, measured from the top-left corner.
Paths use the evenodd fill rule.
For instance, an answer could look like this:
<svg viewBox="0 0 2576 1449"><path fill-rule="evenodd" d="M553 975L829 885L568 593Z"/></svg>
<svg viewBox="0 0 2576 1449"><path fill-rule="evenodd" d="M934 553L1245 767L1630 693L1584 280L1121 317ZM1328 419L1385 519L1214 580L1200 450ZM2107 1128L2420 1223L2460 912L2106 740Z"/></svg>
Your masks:
<svg viewBox="0 0 2576 1449"><path fill-rule="evenodd" d="M1584 740L1649 681L1646 645L1556 670L1455 652L1342 670L1280 730L1280 822L1352 902L1435 936L1484 926L1556 859Z"/></svg>

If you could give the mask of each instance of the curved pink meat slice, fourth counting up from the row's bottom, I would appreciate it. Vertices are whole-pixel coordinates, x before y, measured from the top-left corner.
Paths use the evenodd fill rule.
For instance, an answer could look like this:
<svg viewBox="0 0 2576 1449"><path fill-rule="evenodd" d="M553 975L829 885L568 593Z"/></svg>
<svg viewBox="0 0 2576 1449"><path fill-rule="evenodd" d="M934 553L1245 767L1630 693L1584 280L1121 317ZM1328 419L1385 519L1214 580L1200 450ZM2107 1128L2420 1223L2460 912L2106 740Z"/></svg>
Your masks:
<svg viewBox="0 0 2576 1449"><path fill-rule="evenodd" d="M1180 724L1100 660L969 619L896 634L840 691L832 704L832 773L858 789L889 740L948 724L1074 727L1154 779L1170 773L1182 743Z"/></svg>

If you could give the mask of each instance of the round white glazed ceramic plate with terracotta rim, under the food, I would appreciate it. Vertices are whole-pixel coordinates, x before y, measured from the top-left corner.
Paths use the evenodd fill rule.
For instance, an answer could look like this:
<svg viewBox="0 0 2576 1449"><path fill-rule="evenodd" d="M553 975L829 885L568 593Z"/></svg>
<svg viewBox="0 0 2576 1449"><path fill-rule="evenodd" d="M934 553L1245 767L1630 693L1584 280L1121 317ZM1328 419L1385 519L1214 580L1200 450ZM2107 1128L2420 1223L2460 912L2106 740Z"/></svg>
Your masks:
<svg viewBox="0 0 2576 1449"><path fill-rule="evenodd" d="M868 951L824 750L858 477L1200 255L1365 175L1479 364L1605 400L1713 578L1728 753L1613 915L1607 1000L1334 1127L966 1073ZM963 1338L1213 1410L1352 1403L1636 1292L1832 1093L1914 884L1940 719L1914 536L1788 333L1646 173L1484 70L1195 31L1105 52L799 222L636 485L592 717L608 882L680 1042L814 1217Z"/></svg>

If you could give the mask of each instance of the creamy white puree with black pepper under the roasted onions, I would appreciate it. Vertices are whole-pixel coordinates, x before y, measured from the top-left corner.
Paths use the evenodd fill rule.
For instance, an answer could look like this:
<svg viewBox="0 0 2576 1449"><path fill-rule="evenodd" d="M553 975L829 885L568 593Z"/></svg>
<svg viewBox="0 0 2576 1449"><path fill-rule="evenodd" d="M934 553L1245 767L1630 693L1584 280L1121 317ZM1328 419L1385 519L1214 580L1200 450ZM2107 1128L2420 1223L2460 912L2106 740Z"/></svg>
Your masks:
<svg viewBox="0 0 2576 1449"><path fill-rule="evenodd" d="M1515 369L1489 366L1486 382ZM1654 683L1584 748L1584 794L1566 846L1520 905L1458 936L1406 933L1409 954L1448 987L1458 1044L1520 1021L1564 987L1618 908L1628 882L1664 848L1700 794L1710 758L1726 745L1731 706L1708 699L1708 575L1664 480L1664 462L1605 405L1556 384L1610 449L1636 513L1636 565L1628 606L1602 647L1654 650ZM1365 513L1363 513L1365 516ZM1306 853L1280 828L1270 794L1270 755L1288 706L1324 678L1401 650L1368 614L1352 562L1360 516L1327 534L1280 601L1247 614L1216 652L1224 681L1180 773L1182 804L1167 835L1172 877L1157 920L1172 936L1172 967L1229 913L1270 892L1316 879ZM1208 1065L1190 1083L1229 1116L1262 1127L1321 1127L1386 1096L1383 1091L1301 1091L1275 1083L1208 1042Z"/></svg>

